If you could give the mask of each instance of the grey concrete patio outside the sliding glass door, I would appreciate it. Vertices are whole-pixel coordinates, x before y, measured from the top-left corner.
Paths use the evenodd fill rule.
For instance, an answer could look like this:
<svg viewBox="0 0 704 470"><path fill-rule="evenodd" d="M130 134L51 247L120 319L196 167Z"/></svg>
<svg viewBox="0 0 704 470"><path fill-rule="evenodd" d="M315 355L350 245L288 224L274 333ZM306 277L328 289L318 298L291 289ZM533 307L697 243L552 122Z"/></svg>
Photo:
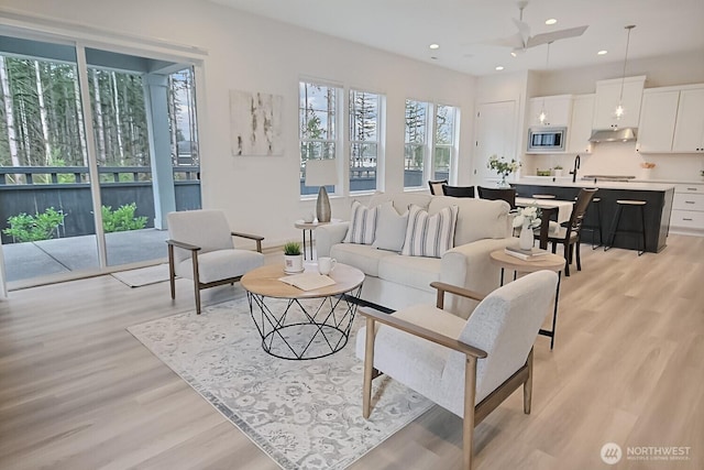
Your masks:
<svg viewBox="0 0 704 470"><path fill-rule="evenodd" d="M106 233L108 265L164 261L167 238L166 230L156 229ZM74 271L100 272L96 236L9 243L3 244L2 250L9 283Z"/></svg>

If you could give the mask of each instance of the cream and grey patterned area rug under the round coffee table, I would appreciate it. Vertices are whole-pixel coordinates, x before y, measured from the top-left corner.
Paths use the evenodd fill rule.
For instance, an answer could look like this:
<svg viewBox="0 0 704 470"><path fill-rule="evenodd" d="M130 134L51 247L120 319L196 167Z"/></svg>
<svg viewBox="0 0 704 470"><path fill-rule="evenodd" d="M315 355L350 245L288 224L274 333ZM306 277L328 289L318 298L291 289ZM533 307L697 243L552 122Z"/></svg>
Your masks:
<svg viewBox="0 0 704 470"><path fill-rule="evenodd" d="M277 359L262 350L249 308L242 298L128 330L282 468L344 469L432 406L383 376L364 419L354 332L327 358Z"/></svg>

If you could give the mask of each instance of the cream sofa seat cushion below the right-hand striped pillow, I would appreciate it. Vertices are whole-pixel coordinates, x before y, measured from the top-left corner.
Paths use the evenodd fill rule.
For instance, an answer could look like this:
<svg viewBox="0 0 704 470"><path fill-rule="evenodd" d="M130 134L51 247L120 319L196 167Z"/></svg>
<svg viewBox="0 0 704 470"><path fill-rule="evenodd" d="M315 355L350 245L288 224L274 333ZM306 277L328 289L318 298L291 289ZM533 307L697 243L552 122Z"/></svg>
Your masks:
<svg viewBox="0 0 704 470"><path fill-rule="evenodd" d="M393 255L380 259L378 277L420 291L433 292L430 283L440 281L440 269L441 260L438 258Z"/></svg>

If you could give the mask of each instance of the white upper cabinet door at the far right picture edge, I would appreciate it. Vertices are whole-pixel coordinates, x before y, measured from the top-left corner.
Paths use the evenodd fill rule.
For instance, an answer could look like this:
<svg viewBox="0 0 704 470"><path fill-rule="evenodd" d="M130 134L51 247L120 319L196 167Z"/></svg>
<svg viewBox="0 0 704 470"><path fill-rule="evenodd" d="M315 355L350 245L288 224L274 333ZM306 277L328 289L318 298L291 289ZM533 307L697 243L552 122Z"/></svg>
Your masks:
<svg viewBox="0 0 704 470"><path fill-rule="evenodd" d="M704 88L680 91L672 151L704 153Z"/></svg>

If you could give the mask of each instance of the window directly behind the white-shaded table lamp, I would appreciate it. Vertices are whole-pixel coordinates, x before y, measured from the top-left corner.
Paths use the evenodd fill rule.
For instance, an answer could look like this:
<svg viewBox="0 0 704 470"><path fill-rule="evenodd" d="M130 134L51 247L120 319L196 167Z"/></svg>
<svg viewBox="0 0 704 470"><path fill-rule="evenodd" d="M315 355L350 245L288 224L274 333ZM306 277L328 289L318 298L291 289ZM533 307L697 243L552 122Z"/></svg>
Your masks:
<svg viewBox="0 0 704 470"><path fill-rule="evenodd" d="M337 97L341 88L310 84L299 84L299 135L300 135L300 194L318 193L317 186L306 186L306 162L312 159L334 159L337 155L338 112ZM334 192L334 185L326 186Z"/></svg>

